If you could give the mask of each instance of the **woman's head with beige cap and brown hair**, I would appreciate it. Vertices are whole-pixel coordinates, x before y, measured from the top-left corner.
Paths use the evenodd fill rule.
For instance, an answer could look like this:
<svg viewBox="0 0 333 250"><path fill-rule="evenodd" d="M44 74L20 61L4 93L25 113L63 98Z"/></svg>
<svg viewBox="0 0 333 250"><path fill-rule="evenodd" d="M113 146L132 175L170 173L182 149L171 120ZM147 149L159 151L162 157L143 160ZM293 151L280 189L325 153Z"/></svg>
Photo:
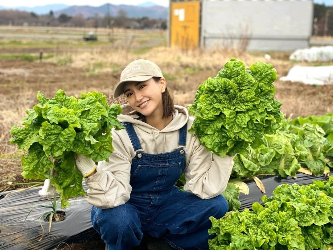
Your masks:
<svg viewBox="0 0 333 250"><path fill-rule="evenodd" d="M134 111L128 115L136 114L137 119L159 130L170 123L175 109L166 88L166 79L155 63L136 60L124 69L120 79L115 86L114 95L118 97L125 94L130 106L134 107Z"/></svg>

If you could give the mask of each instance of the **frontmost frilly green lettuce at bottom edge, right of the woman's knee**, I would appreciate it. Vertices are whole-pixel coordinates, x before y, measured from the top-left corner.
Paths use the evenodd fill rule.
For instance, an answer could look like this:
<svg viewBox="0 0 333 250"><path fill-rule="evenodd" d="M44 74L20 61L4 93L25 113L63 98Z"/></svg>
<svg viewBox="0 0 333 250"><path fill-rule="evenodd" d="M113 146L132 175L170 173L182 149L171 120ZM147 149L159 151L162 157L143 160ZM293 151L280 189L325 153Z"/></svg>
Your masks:
<svg viewBox="0 0 333 250"><path fill-rule="evenodd" d="M230 212L225 218L210 217L212 228L209 249L305 249L297 221L286 212L263 208L259 203L252 210Z"/></svg>

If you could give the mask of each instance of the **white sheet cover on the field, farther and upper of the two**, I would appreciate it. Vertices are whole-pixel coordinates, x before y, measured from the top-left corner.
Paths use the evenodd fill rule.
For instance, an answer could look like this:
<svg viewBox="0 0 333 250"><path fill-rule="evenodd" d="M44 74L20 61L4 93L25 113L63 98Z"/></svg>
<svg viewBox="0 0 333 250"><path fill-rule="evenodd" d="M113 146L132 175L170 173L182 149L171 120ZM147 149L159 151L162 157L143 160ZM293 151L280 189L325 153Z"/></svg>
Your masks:
<svg viewBox="0 0 333 250"><path fill-rule="evenodd" d="M289 59L307 62L329 62L333 60L333 46L298 49L289 56Z"/></svg>

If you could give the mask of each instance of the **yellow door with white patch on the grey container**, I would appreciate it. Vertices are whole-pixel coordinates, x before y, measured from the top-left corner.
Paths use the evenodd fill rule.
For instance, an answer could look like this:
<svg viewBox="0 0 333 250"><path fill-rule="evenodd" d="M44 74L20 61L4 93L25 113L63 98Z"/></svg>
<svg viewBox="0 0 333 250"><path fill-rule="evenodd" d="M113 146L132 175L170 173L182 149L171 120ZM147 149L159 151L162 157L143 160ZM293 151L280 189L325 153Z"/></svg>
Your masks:
<svg viewBox="0 0 333 250"><path fill-rule="evenodd" d="M171 3L170 44L182 49L199 46L200 1Z"/></svg>

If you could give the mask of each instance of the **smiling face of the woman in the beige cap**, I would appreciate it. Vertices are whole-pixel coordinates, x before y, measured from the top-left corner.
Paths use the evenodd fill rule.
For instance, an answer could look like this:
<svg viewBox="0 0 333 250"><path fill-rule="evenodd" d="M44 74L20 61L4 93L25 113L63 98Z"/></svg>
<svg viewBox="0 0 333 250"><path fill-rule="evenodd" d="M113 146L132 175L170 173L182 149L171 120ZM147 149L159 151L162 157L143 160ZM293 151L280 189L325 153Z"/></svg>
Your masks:
<svg viewBox="0 0 333 250"><path fill-rule="evenodd" d="M161 78L156 82L153 78L145 82L126 82L123 86L124 94L131 107L149 116L156 112L163 114L162 93L165 92L166 81Z"/></svg>

